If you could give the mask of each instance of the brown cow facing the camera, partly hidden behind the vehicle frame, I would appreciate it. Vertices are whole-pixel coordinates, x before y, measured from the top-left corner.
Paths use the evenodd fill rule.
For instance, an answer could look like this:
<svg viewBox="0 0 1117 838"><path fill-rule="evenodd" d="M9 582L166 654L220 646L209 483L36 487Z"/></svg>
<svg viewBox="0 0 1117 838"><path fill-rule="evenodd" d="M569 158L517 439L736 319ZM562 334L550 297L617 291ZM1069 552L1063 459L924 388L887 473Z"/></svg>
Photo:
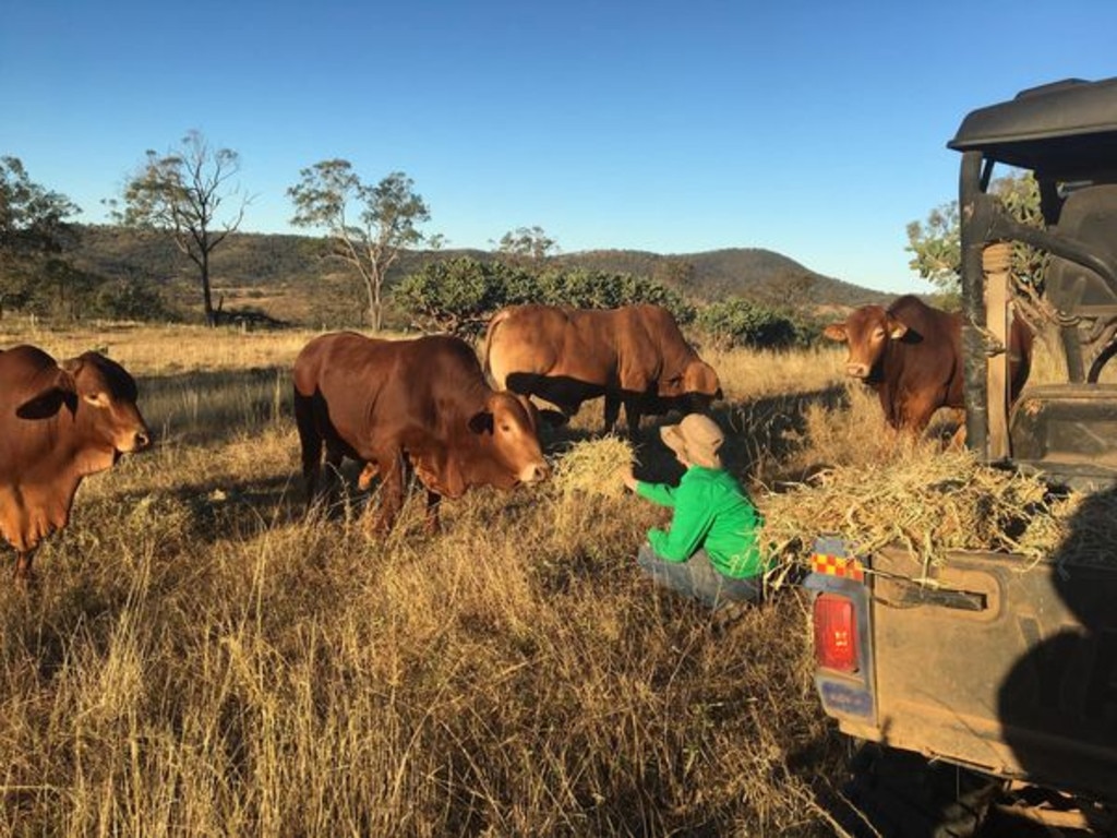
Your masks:
<svg viewBox="0 0 1117 838"><path fill-rule="evenodd" d="M908 294L887 310L861 306L823 334L848 344L846 372L877 391L891 427L922 434L939 408L965 407L960 313L933 308ZM1009 353L1014 401L1028 381L1032 354L1032 333L1015 317Z"/></svg>

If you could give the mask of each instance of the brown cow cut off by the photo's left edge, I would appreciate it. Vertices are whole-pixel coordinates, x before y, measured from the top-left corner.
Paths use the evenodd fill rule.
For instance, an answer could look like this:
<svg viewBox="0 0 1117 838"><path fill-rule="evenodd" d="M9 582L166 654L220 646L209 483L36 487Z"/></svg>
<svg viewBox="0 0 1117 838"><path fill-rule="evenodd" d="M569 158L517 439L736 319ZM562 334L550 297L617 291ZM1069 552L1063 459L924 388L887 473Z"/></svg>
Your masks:
<svg viewBox="0 0 1117 838"><path fill-rule="evenodd" d="M0 352L0 534L16 549L17 579L31 578L39 542L66 526L82 478L149 445L136 383L115 361Z"/></svg>

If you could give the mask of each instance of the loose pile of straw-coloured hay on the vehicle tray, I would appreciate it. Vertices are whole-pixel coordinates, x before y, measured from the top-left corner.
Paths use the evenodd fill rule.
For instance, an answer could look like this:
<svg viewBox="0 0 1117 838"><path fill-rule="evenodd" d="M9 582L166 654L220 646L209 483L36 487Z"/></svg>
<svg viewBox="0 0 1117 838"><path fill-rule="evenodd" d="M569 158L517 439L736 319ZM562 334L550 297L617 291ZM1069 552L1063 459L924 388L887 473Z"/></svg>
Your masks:
<svg viewBox="0 0 1117 838"><path fill-rule="evenodd" d="M784 561L805 563L814 536L834 533L862 553L904 546L924 568L946 550L1117 566L1111 493L1053 494L1038 477L982 466L967 451L834 467L757 499L765 540Z"/></svg>

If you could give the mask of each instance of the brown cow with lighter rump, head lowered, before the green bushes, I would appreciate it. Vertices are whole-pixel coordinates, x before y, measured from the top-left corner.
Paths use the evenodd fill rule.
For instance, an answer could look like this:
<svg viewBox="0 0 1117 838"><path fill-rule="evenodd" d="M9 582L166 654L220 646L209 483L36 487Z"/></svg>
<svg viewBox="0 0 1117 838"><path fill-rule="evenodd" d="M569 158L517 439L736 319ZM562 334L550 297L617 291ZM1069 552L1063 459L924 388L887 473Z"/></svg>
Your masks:
<svg viewBox="0 0 1117 838"><path fill-rule="evenodd" d="M621 404L633 436L645 413L701 411L722 398L717 372L658 305L504 308L488 324L485 366L499 389L538 396L567 416L604 396L605 434Z"/></svg>

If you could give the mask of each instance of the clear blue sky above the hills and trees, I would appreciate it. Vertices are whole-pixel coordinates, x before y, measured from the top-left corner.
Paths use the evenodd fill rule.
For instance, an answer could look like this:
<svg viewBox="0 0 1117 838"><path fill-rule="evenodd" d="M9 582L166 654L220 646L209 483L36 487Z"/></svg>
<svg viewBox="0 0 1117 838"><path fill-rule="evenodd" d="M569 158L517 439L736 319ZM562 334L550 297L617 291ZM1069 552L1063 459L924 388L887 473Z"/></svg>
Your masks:
<svg viewBox="0 0 1117 838"><path fill-rule="evenodd" d="M393 171L449 247L767 248L926 291L906 226L954 200L974 107L1117 75L1113 0L3 0L0 154L80 220L189 130L237 151L241 229L344 158Z"/></svg>

